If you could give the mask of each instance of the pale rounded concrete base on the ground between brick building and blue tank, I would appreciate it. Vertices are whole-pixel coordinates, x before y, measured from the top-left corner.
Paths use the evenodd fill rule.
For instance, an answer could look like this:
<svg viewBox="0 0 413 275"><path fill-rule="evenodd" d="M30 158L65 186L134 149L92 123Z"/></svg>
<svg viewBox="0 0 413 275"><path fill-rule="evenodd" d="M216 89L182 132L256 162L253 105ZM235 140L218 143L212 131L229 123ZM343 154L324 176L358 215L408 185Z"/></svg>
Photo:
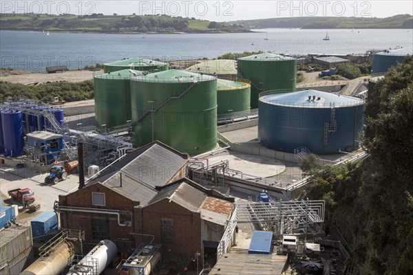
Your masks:
<svg viewBox="0 0 413 275"><path fill-rule="evenodd" d="M223 159L228 159L229 168L233 170L242 171L246 177L244 179L251 179L248 175L256 177L273 177L279 173L284 172L286 166L277 159L271 157L260 157L257 155L247 155L229 151L220 155L213 155L208 157L209 163L220 162Z"/></svg>

